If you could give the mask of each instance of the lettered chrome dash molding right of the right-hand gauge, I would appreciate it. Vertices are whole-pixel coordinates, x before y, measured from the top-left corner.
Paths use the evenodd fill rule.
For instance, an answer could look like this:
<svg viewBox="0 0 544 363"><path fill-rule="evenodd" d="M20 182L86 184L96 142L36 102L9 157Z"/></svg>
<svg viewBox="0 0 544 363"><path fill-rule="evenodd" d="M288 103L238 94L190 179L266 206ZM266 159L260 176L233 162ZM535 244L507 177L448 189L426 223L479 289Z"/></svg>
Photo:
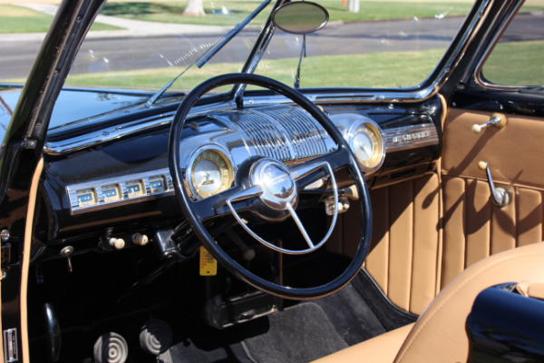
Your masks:
<svg viewBox="0 0 544 363"><path fill-rule="evenodd" d="M385 148L387 152L438 145L439 138L434 123L397 127L384 130Z"/></svg>

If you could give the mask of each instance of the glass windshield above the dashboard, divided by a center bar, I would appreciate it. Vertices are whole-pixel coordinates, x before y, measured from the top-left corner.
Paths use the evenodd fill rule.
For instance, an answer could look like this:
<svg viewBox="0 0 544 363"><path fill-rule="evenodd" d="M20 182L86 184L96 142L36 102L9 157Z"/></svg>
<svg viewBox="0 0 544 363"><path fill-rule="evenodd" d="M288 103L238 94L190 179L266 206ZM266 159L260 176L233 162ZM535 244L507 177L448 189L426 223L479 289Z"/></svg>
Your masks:
<svg viewBox="0 0 544 363"><path fill-rule="evenodd" d="M431 74L452 43L471 1L318 0L330 14L316 33L276 30L255 73L301 87L410 87ZM184 4L120 2L104 5L67 85L157 90L217 44L260 1L205 1L202 16ZM188 91L215 74L239 72L275 2L201 68L190 67L169 91ZM358 7L358 9L357 9ZM351 11L350 11L351 9ZM306 37L306 49L303 49Z"/></svg>

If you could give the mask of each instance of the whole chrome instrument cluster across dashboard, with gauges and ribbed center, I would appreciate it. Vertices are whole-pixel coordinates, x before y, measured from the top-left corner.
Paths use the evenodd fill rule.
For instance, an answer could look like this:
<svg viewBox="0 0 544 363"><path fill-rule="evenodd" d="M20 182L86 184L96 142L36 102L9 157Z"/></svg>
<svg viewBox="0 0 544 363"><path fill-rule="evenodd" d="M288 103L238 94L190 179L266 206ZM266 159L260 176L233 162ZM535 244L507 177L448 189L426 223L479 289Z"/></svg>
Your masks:
<svg viewBox="0 0 544 363"><path fill-rule="evenodd" d="M337 145L308 113L287 105L228 110L199 116L181 142L185 187L195 201L230 188L238 167L249 158L272 158L287 166L334 152ZM438 144L433 123L388 128L360 113L330 119L355 153L366 174L381 172L387 152ZM135 173L66 187L71 214L96 211L143 199L173 195L170 170Z"/></svg>

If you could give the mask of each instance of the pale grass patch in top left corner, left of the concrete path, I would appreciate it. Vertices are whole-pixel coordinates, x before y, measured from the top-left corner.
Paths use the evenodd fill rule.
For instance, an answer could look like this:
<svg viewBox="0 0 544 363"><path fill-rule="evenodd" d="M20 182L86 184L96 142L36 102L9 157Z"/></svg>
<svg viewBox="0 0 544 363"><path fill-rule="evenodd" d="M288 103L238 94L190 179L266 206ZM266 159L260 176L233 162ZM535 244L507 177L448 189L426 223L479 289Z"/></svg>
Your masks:
<svg viewBox="0 0 544 363"><path fill-rule="evenodd" d="M53 15L46 15L26 7L0 5L0 33L44 33L53 22ZM94 24L92 30L120 29L116 26Z"/></svg>

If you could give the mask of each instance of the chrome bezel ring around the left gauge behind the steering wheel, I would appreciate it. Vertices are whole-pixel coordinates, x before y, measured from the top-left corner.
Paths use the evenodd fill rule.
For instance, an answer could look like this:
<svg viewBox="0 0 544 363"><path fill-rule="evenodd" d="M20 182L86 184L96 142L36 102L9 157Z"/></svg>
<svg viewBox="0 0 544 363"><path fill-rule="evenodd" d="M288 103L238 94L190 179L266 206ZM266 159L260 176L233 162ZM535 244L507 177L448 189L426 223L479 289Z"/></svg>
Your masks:
<svg viewBox="0 0 544 363"><path fill-rule="evenodd" d="M219 157L222 159L223 162L225 162L226 168L225 168L225 176L228 178L227 182L223 183L221 179L221 185L219 186L219 189L212 192L206 192L199 190L199 187L196 185L195 178L194 178L194 169L197 165L198 158L200 155L203 155L204 152L213 152L215 154L218 154ZM206 160L210 160L208 158L205 158ZM214 162L217 164L216 161L210 160L211 162ZM187 169L185 170L185 187L189 191L189 195L193 200L202 200L204 198L208 198L211 195L218 194L221 191L226 191L228 188L232 186L232 183L234 182L234 177L236 174L236 168L234 166L234 162L232 162L232 159L229 155L229 153L216 144L206 144L200 146L195 152L193 152L189 157L189 162L187 163ZM221 170L221 166L218 164L219 170Z"/></svg>

